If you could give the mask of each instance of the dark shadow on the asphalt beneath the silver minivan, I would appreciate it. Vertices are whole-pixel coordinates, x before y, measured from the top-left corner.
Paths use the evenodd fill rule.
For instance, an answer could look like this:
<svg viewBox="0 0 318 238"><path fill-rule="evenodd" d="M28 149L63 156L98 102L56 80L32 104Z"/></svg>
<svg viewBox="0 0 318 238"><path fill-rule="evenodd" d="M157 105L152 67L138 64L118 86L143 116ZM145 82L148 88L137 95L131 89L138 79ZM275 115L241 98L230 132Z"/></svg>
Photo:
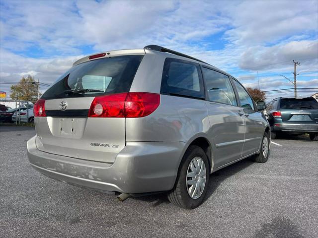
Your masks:
<svg viewBox="0 0 318 238"><path fill-rule="evenodd" d="M254 162L251 162L249 158L246 158L244 160L241 160L233 165L230 165L228 167L225 167L224 169L221 169L217 172L214 172L212 175L210 175L210 180L207 188L207 193L204 198L204 202L209 199L209 197L214 193L214 191L218 188L218 186L229 177L237 174L241 170L244 170L248 166L254 164ZM142 197L133 197L132 199L138 199L146 202L153 203L152 206L156 207L163 203L170 203L167 194L166 193L159 193L154 195L148 195L148 196L142 196Z"/></svg>

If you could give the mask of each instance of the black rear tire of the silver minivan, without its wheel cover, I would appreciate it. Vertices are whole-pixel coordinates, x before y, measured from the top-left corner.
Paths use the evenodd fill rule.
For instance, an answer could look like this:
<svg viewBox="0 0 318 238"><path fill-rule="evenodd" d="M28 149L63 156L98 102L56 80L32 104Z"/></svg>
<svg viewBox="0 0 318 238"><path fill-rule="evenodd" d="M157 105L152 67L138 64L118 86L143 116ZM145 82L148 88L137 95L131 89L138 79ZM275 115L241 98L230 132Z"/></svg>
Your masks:
<svg viewBox="0 0 318 238"><path fill-rule="evenodd" d="M193 199L188 194L186 181L187 181L188 167L192 159L195 157L200 157L205 164L206 181L205 181L202 194L198 198ZM178 175L177 175L174 187L171 191L168 192L169 201L176 206L179 206L181 208L186 208L186 209L194 209L200 206L203 202L203 199L207 191L209 177L210 177L210 166L209 166L208 158L206 154L204 153L203 149L196 145L189 146L179 166Z"/></svg>

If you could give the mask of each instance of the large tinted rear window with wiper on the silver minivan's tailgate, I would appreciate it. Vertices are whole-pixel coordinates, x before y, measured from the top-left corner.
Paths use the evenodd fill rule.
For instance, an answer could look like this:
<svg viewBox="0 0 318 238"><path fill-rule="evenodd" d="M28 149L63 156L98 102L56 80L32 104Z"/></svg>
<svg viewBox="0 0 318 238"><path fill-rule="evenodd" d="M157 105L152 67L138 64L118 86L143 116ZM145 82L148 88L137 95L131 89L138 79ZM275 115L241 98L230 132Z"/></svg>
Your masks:
<svg viewBox="0 0 318 238"><path fill-rule="evenodd" d="M129 92L142 59L142 55L131 55L80 63L63 74L41 98L95 97Z"/></svg>

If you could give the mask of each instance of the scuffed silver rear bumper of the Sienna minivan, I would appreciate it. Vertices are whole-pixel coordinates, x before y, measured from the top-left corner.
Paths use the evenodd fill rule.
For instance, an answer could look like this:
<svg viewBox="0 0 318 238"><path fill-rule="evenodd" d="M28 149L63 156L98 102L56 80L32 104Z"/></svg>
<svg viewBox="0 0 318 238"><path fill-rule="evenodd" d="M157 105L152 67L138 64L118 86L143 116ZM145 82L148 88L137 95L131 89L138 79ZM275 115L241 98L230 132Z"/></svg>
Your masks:
<svg viewBox="0 0 318 238"><path fill-rule="evenodd" d="M127 142L114 163L81 160L39 151L27 142L34 169L47 177L101 191L147 193L172 189L185 143Z"/></svg>

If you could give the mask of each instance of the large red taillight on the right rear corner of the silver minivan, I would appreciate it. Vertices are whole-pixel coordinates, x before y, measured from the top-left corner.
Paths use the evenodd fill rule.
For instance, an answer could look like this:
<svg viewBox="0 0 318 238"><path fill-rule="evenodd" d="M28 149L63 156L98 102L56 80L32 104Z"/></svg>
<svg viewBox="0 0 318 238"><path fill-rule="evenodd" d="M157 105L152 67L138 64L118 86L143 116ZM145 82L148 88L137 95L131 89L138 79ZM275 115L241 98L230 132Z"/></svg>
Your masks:
<svg viewBox="0 0 318 238"><path fill-rule="evenodd" d="M119 93L95 97L90 105L91 118L142 118L152 114L160 104L155 93Z"/></svg>

